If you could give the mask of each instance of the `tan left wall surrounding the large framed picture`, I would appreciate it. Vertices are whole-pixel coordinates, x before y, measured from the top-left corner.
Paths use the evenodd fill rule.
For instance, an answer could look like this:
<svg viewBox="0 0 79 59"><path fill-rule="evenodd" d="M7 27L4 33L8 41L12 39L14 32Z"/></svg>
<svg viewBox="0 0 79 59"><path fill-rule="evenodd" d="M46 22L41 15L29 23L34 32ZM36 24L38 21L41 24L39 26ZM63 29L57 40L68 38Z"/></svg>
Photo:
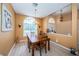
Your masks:
<svg viewBox="0 0 79 59"><path fill-rule="evenodd" d="M11 4L6 5L8 10L12 14L12 31L2 32L1 31L1 3L0 3L0 54L8 55L11 47L15 41L15 13Z"/></svg>

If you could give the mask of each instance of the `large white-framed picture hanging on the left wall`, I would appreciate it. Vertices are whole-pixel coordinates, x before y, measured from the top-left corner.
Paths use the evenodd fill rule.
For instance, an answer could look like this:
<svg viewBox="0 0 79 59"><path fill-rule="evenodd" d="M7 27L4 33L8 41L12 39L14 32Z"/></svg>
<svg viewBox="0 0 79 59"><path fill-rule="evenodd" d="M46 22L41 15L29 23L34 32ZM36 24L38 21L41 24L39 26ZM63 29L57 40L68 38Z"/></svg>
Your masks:
<svg viewBox="0 0 79 59"><path fill-rule="evenodd" d="M11 22L11 13L7 9L5 4L2 4L2 31L11 31L12 22Z"/></svg>

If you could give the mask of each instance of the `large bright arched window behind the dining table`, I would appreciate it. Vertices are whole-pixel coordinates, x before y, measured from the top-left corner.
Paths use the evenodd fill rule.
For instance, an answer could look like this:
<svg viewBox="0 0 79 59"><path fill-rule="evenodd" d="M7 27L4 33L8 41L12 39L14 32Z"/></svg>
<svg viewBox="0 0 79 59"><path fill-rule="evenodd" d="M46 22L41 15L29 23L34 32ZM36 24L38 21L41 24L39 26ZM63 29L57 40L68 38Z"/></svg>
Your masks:
<svg viewBox="0 0 79 59"><path fill-rule="evenodd" d="M37 34L37 25L33 17L27 17L23 22L23 36L29 33Z"/></svg>

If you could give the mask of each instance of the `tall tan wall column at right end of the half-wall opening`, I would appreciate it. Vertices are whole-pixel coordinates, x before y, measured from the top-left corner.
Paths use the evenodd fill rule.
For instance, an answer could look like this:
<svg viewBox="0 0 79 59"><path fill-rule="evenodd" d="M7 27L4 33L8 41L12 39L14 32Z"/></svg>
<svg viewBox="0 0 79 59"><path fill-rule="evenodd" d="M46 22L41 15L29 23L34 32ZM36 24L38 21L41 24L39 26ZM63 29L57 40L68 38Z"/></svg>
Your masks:
<svg viewBox="0 0 79 59"><path fill-rule="evenodd" d="M72 3L72 47L77 49L77 34L78 34L78 29L77 29L77 4Z"/></svg>

